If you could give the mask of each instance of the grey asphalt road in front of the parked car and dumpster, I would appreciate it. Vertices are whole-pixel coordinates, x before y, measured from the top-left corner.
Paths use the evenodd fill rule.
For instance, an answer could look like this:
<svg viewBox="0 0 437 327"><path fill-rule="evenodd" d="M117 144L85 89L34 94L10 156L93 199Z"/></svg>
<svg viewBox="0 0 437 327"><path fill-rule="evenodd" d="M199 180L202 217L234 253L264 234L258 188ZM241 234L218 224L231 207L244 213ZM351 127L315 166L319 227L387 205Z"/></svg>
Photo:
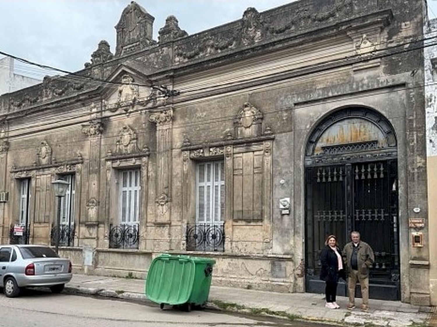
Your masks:
<svg viewBox="0 0 437 327"><path fill-rule="evenodd" d="M248 317L214 310L184 312L171 307L160 310L158 306L119 300L52 294L43 290L26 290L24 294L14 299L0 294L0 326L321 327L323 325L274 320L266 317Z"/></svg>

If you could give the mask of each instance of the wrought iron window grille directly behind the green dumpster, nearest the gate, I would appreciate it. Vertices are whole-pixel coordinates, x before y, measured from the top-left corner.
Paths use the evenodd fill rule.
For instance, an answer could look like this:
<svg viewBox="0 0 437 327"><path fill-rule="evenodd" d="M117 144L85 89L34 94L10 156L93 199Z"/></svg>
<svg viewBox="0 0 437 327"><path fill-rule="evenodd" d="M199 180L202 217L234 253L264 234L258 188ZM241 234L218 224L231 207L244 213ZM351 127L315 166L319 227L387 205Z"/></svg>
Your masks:
<svg viewBox="0 0 437 327"><path fill-rule="evenodd" d="M223 224L187 224L187 251L225 251Z"/></svg>

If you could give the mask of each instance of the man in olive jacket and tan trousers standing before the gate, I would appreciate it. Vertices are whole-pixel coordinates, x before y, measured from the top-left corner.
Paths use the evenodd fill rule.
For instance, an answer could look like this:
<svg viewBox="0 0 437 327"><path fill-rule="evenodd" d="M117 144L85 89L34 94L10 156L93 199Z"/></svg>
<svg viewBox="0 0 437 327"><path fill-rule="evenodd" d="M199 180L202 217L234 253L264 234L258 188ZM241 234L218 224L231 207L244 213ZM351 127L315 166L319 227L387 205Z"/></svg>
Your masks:
<svg viewBox="0 0 437 327"><path fill-rule="evenodd" d="M360 282L362 304L361 310L369 308L369 269L375 261L373 250L369 244L360 240L360 233L350 233L352 242L343 248L343 258L347 265L347 288L349 291L349 303L347 309L355 309L355 287Z"/></svg>

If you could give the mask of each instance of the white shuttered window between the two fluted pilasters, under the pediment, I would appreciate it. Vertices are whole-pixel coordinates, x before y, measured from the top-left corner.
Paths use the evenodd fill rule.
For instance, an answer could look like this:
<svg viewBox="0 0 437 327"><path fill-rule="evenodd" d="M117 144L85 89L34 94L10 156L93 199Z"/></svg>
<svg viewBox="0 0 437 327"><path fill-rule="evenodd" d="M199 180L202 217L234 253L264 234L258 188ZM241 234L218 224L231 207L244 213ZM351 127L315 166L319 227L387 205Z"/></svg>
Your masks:
<svg viewBox="0 0 437 327"><path fill-rule="evenodd" d="M140 173L139 169L121 170L120 177L120 222L136 224L139 221Z"/></svg>

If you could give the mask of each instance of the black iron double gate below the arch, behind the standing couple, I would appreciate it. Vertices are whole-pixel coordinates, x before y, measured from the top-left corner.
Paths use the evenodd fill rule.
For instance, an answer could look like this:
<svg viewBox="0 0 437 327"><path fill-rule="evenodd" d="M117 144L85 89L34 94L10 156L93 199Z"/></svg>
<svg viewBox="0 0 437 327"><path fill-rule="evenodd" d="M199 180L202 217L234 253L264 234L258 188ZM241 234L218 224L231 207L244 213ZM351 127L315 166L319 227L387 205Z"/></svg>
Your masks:
<svg viewBox="0 0 437 327"><path fill-rule="evenodd" d="M335 234L342 248L355 230L375 252L370 297L400 299L397 160L307 167L305 184L306 291L324 292L319 254L326 236ZM338 293L346 295L345 283Z"/></svg>

